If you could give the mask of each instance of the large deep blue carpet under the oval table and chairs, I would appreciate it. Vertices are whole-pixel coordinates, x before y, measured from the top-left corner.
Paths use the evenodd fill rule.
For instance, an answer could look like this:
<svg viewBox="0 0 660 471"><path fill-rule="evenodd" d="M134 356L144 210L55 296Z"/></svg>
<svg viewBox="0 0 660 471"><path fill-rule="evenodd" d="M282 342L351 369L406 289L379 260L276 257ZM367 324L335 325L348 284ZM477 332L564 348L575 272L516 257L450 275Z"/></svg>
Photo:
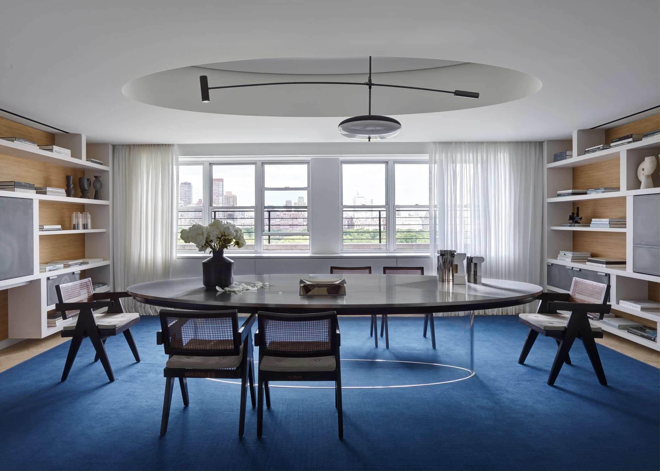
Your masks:
<svg viewBox="0 0 660 471"><path fill-rule="evenodd" d="M369 318L340 318L346 359L406 360L463 366L463 319L436 318L438 349L422 338L422 318L390 319L390 349L376 349ZM476 375L400 389L345 389L345 439L337 439L331 389L271 388L272 408L256 438L256 410L238 439L239 388L190 379L183 408L178 385L167 435L160 437L166 361L158 319L134 329L142 361L123 339L106 348L108 383L82 344L60 383L68 342L0 373L0 468L49 469L498 469L657 470L659 370L599 346L609 386L599 385L581 342L556 387L546 385L556 346L537 340L517 358L527 329L513 316L475 319ZM459 369L346 361L345 386L451 381ZM249 401L249 399L248 399ZM249 402L248 402L249 404Z"/></svg>

